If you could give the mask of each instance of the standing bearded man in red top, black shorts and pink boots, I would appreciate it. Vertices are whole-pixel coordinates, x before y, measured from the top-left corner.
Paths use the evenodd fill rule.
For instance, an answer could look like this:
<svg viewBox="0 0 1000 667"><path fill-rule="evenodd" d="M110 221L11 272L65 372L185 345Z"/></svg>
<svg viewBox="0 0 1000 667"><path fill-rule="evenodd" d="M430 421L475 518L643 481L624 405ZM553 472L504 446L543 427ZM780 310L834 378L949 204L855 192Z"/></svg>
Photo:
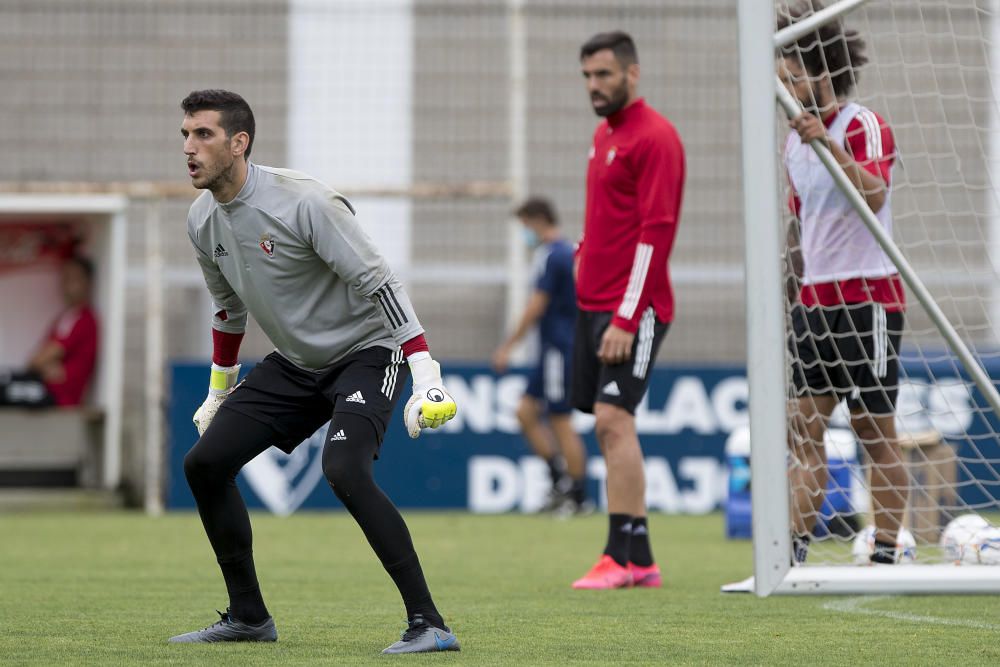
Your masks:
<svg viewBox="0 0 1000 667"><path fill-rule="evenodd" d="M574 588L659 587L646 523L635 409L674 316L668 259L684 190L684 148L669 120L638 97L635 43L595 35L580 49L595 113L587 207L577 251L573 406L596 417L607 464L607 546Z"/></svg>

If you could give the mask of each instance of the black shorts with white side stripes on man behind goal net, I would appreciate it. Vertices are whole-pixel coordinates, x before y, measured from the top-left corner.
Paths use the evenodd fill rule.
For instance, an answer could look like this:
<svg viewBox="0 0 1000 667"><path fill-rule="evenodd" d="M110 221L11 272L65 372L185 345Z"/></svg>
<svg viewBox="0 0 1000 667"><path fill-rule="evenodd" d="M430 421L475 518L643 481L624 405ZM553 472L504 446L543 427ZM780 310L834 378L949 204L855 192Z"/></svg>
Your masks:
<svg viewBox="0 0 1000 667"><path fill-rule="evenodd" d="M852 412L895 412L903 319L877 303L795 306L788 348L796 396L836 395Z"/></svg>

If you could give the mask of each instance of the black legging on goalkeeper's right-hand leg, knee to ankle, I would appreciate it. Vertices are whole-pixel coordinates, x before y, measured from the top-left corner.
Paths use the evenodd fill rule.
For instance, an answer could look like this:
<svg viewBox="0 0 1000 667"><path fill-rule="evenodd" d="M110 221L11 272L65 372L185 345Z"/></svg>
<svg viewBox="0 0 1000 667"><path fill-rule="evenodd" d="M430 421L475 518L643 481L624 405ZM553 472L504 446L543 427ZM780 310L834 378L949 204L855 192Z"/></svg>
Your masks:
<svg viewBox="0 0 1000 667"><path fill-rule="evenodd" d="M407 618L421 614L433 626L444 628L434 606L410 531L392 501L375 484L372 462L378 437L372 423L361 415L337 412L330 430L342 430L346 440L327 439L323 472L347 511L358 522L365 538L399 589Z"/></svg>

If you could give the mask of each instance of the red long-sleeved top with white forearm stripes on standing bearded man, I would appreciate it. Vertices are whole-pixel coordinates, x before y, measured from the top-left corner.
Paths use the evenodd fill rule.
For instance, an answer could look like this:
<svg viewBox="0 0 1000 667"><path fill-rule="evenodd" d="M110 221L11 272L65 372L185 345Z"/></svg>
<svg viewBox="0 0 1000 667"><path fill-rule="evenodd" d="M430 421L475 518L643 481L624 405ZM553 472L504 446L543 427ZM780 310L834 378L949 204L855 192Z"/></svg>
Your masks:
<svg viewBox="0 0 1000 667"><path fill-rule="evenodd" d="M684 147L673 124L640 98L594 132L577 276L581 310L614 312L635 333L652 306L674 317L668 259L684 191Z"/></svg>

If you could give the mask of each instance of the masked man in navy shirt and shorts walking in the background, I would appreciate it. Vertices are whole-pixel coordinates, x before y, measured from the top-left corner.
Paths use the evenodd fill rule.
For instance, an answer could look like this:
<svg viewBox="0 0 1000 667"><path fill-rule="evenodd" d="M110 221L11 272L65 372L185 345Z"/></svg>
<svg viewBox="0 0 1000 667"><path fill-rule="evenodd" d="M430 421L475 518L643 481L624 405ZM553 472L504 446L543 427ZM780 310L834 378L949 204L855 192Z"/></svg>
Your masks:
<svg viewBox="0 0 1000 667"><path fill-rule="evenodd" d="M535 290L517 327L494 353L493 368L506 371L514 345L538 326L540 352L518 404L517 421L532 451L549 466L552 491L542 511L582 514L593 506L586 496L586 452L573 429L569 405L576 321L573 246L559 233L555 210L547 200L528 199L516 215L524 226L525 243L534 249Z"/></svg>

